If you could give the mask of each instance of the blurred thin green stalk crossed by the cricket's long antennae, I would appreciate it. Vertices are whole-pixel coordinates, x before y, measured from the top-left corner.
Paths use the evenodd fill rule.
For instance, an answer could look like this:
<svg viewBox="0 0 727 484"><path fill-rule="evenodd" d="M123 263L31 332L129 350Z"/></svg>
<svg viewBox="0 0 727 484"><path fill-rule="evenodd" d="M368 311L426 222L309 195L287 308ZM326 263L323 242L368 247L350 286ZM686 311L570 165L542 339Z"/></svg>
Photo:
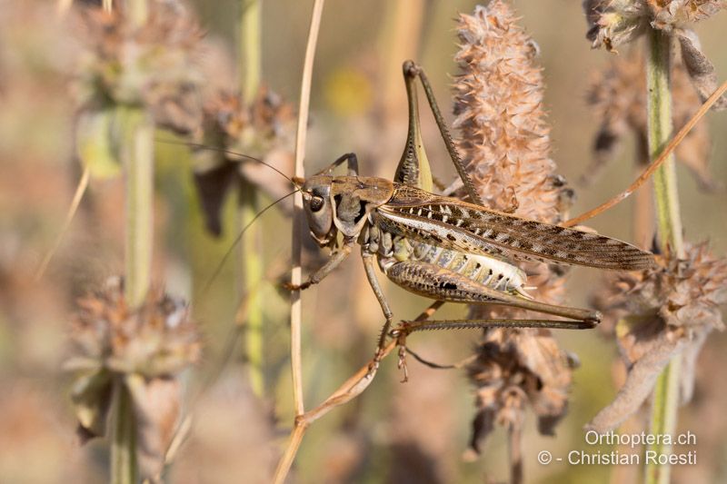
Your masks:
<svg viewBox="0 0 727 484"><path fill-rule="evenodd" d="M260 0L243 0L240 16L240 71L241 92L244 102L251 104L260 89L261 82L261 5ZM240 183L240 227L252 222L260 208L258 189L253 183ZM245 354L250 370L250 385L255 395L264 394L263 372L263 304L260 297L260 284L263 281L261 257L262 232L255 225L244 233L240 244L238 262L238 281L241 281L241 294L246 297L247 321L245 331Z"/></svg>

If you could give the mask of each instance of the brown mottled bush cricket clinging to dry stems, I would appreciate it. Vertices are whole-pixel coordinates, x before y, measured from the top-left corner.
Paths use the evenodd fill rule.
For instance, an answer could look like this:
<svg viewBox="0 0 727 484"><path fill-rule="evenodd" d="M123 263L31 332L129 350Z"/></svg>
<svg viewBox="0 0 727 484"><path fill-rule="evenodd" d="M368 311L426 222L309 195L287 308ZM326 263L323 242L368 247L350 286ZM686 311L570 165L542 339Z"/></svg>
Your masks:
<svg viewBox="0 0 727 484"><path fill-rule="evenodd" d="M376 262L382 272L403 289L435 301L501 304L569 320L423 321L404 325L402 331L593 328L601 321L598 311L534 301L526 291L526 275L514 261L636 271L652 265L652 254L596 233L536 222L483 207L453 146L422 69L412 61L406 61L403 75L409 103L409 130L393 181L359 176L354 153L344 154L307 180L296 180L303 193L311 235L321 247L330 247L332 254L324 266L310 274L300 286L287 287L303 290L321 282L358 243L366 277L385 318L377 355L381 354L390 336L393 313L378 281ZM423 152L419 126L416 78L423 84L428 104L470 202L432 193L432 175ZM344 163L347 174L334 175L334 169Z"/></svg>

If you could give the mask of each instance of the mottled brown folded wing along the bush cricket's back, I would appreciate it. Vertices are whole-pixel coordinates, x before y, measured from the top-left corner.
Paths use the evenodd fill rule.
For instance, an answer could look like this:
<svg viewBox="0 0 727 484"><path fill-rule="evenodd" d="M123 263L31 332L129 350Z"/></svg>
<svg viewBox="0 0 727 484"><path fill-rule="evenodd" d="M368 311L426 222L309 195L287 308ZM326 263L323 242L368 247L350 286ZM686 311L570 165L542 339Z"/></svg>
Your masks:
<svg viewBox="0 0 727 484"><path fill-rule="evenodd" d="M379 207L384 225L407 236L469 253L577 264L615 271L650 267L653 255L597 233L523 219L396 184Z"/></svg>

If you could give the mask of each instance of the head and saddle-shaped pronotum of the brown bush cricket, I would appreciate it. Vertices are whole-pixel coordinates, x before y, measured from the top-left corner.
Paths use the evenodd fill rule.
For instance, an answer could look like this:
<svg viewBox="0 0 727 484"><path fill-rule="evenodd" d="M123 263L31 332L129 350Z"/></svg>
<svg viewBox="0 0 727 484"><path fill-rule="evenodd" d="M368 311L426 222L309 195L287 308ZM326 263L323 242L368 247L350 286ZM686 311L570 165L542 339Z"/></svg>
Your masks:
<svg viewBox="0 0 727 484"><path fill-rule="evenodd" d="M318 174L301 192L311 235L323 247L338 231L358 236L367 215L392 197L393 184L383 178Z"/></svg>

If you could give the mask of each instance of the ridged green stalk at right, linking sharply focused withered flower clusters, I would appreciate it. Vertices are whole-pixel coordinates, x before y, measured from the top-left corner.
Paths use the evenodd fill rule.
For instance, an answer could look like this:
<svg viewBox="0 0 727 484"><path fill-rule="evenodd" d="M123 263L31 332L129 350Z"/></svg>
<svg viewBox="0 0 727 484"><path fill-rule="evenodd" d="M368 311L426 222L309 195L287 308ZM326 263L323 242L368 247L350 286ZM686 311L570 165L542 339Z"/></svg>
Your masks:
<svg viewBox="0 0 727 484"><path fill-rule="evenodd" d="M671 48L672 37L661 31L649 33L649 48L646 61L647 116L649 130L649 154L655 159L662 152L672 135L672 91L671 91ZM674 157L662 164L653 176L656 219L662 253L683 257L682 219L679 212L676 170ZM652 435L673 434L676 429L676 412L679 406L679 376L681 358L676 356L663 370L656 382L652 403ZM650 445L658 455L670 454L672 447L664 444ZM648 463L647 484L669 482L670 466Z"/></svg>

